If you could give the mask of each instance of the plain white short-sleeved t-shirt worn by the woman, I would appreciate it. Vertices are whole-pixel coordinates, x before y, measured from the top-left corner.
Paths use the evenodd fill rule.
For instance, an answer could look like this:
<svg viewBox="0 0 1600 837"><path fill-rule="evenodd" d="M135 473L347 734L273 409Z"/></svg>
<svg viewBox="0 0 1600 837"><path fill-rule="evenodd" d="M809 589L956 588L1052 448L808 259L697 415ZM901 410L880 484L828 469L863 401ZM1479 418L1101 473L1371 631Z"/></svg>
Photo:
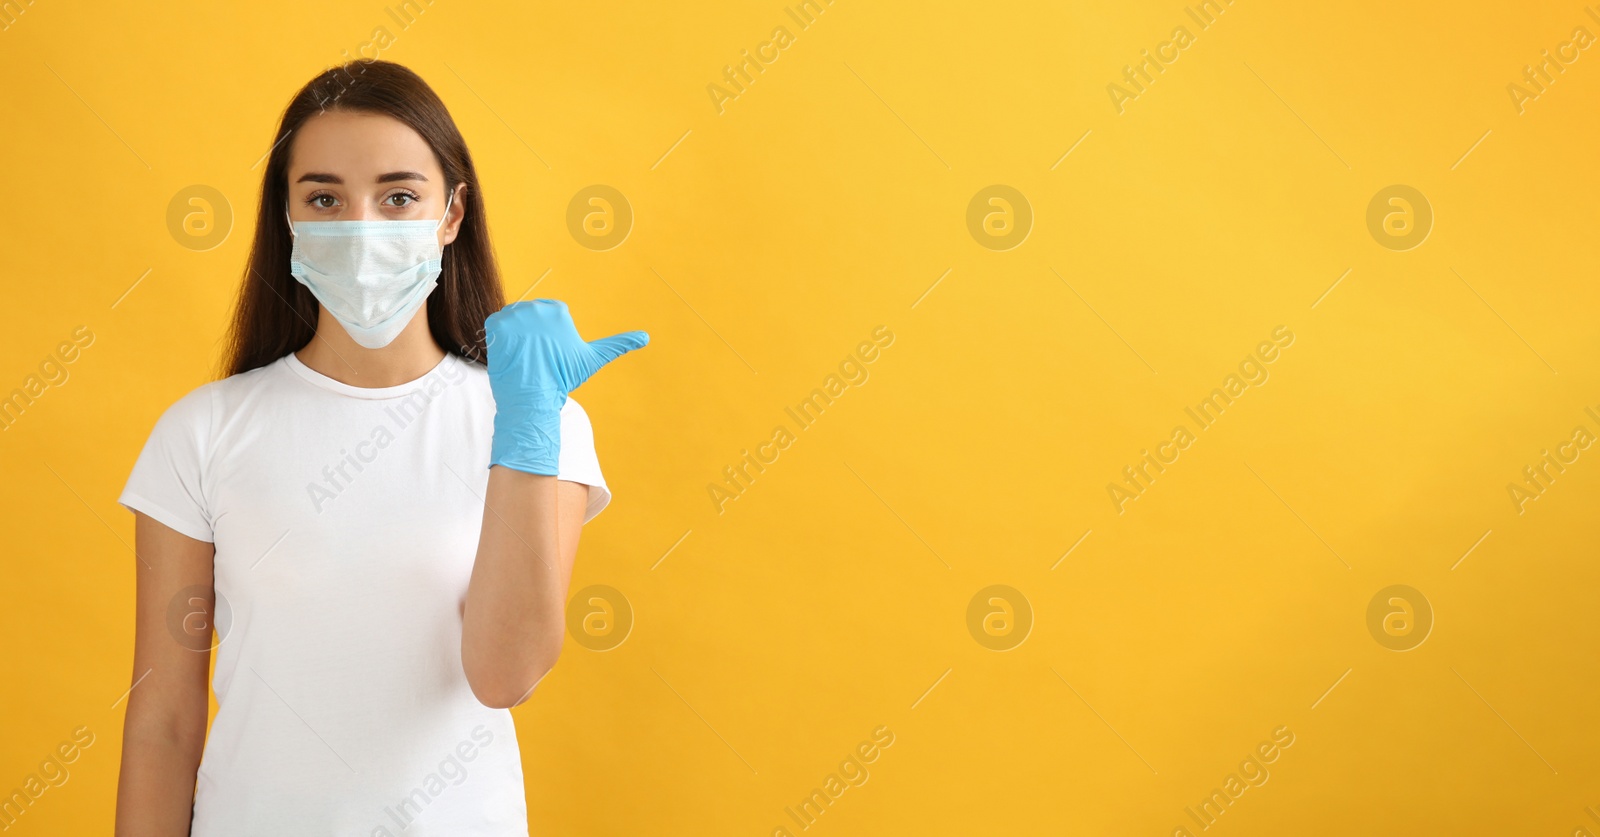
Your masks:
<svg viewBox="0 0 1600 837"><path fill-rule="evenodd" d="M216 544L194 837L528 834L510 711L461 667L493 419L456 355L366 389L290 354L155 423L118 503ZM558 472L590 487L584 522L610 503L571 398Z"/></svg>

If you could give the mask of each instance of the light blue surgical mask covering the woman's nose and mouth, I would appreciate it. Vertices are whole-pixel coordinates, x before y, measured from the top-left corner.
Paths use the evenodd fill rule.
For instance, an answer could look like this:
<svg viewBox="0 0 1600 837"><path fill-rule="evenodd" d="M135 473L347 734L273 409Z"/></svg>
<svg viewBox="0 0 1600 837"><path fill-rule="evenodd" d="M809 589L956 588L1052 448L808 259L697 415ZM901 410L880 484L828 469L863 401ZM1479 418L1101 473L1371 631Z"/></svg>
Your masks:
<svg viewBox="0 0 1600 837"><path fill-rule="evenodd" d="M350 338L382 349L411 322L438 285L443 251L438 221L301 221L290 219L294 246L290 274ZM283 218L290 210L283 206Z"/></svg>

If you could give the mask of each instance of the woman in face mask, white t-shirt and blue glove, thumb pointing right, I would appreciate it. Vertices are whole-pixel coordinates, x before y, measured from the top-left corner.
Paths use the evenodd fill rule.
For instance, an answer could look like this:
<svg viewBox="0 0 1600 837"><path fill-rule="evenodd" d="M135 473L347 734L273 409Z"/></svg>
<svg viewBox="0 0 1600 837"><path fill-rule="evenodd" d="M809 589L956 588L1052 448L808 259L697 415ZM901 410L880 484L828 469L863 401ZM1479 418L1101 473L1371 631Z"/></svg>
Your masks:
<svg viewBox="0 0 1600 837"><path fill-rule="evenodd" d="M120 496L118 837L528 834L509 707L555 664L579 528L611 496L566 395L648 336L501 306L438 96L386 61L306 85L229 376L162 414Z"/></svg>

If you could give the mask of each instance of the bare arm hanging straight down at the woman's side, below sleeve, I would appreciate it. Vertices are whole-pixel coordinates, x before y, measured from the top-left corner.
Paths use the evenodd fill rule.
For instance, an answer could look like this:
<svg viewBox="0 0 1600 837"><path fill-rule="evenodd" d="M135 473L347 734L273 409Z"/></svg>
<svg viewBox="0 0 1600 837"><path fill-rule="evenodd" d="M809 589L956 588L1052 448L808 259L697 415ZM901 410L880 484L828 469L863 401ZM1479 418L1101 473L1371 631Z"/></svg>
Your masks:
<svg viewBox="0 0 1600 837"><path fill-rule="evenodd" d="M115 837L184 837L205 747L216 547L134 514L133 679L122 730ZM186 592L187 591L187 592ZM174 599L189 615L168 627Z"/></svg>

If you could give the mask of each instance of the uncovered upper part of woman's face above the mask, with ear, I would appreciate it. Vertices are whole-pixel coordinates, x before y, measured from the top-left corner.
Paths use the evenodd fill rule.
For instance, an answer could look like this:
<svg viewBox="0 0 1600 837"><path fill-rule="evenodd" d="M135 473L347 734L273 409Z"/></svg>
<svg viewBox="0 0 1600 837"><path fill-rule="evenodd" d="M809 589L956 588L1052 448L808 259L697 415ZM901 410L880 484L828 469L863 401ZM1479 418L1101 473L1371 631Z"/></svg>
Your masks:
<svg viewBox="0 0 1600 837"><path fill-rule="evenodd" d="M422 134L382 114L326 110L290 141L293 221L422 221L445 213L445 173ZM466 214L462 192L438 229L440 246L456 240Z"/></svg>

